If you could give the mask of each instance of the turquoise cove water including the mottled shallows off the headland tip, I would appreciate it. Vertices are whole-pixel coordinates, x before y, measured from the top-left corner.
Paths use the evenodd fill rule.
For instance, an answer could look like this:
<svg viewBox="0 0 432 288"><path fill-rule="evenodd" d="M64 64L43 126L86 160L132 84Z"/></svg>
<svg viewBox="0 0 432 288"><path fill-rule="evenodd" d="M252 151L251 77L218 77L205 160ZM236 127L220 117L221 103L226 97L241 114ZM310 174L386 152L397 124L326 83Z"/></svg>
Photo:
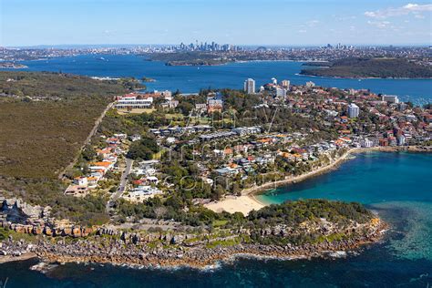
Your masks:
<svg viewBox="0 0 432 288"><path fill-rule="evenodd" d="M257 196L267 203L317 198L358 201L379 211L397 227L387 243L396 257L432 261L431 154L357 154L330 173Z"/></svg>

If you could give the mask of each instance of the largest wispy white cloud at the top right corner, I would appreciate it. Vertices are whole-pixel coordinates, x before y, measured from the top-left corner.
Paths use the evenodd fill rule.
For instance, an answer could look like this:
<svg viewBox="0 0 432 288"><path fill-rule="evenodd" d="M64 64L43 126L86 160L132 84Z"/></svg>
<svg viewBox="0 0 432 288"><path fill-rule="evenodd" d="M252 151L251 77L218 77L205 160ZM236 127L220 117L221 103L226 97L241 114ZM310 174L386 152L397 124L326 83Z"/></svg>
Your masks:
<svg viewBox="0 0 432 288"><path fill-rule="evenodd" d="M413 14L416 17L423 16L422 14L432 12L432 4L407 4L397 8L386 8L384 10L366 11L365 16L377 19L386 19L388 17L395 17L400 15Z"/></svg>

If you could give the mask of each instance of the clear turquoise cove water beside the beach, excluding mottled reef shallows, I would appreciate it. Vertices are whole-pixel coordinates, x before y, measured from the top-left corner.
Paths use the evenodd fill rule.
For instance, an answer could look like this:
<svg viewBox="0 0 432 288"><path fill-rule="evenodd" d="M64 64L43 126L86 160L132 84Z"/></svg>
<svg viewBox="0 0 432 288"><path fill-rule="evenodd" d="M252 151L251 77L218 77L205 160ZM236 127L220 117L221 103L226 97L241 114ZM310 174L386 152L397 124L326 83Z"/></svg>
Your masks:
<svg viewBox="0 0 432 288"><path fill-rule="evenodd" d="M432 201L432 155L370 152L356 154L337 170L257 196L260 201L325 198L359 201Z"/></svg>

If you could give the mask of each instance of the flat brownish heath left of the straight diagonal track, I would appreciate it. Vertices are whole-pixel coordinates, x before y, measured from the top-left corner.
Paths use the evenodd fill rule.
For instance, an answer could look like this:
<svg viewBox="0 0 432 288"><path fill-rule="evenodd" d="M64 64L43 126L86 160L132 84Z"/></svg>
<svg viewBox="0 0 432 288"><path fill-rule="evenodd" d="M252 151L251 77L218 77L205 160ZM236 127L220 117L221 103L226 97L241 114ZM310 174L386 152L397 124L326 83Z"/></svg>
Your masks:
<svg viewBox="0 0 432 288"><path fill-rule="evenodd" d="M0 103L0 175L55 179L107 105L102 97Z"/></svg>

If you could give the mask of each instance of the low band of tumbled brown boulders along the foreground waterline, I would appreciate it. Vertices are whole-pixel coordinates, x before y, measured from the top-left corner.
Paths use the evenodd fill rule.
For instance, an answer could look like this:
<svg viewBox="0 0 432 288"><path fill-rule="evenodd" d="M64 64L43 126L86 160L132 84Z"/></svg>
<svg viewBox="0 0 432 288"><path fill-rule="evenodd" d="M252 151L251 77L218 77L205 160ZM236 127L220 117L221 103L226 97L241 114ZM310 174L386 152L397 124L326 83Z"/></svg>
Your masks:
<svg viewBox="0 0 432 288"><path fill-rule="evenodd" d="M367 243L379 241L386 230L387 225L379 221L373 229L363 236L355 236L350 239L335 242L308 243L303 245L287 244L263 245L252 243L240 243L229 247L217 246L207 248L205 245L197 247L173 246L170 249L162 246L149 248L146 245L137 245L118 241L109 245L98 241L80 240L66 243L64 240L52 242L43 240L37 244L27 244L23 241L8 241L3 243L3 251L10 252L15 257L31 255L42 262L93 262L111 263L116 265L146 266L146 267L178 267L189 266L192 268L205 268L215 262L230 261L237 257L257 257L274 259L310 259L323 257L332 252L348 252L358 249ZM13 261L14 256L9 257ZM31 258L29 256L25 259ZM5 256L0 256L5 262ZM16 260L23 260L16 258Z"/></svg>

